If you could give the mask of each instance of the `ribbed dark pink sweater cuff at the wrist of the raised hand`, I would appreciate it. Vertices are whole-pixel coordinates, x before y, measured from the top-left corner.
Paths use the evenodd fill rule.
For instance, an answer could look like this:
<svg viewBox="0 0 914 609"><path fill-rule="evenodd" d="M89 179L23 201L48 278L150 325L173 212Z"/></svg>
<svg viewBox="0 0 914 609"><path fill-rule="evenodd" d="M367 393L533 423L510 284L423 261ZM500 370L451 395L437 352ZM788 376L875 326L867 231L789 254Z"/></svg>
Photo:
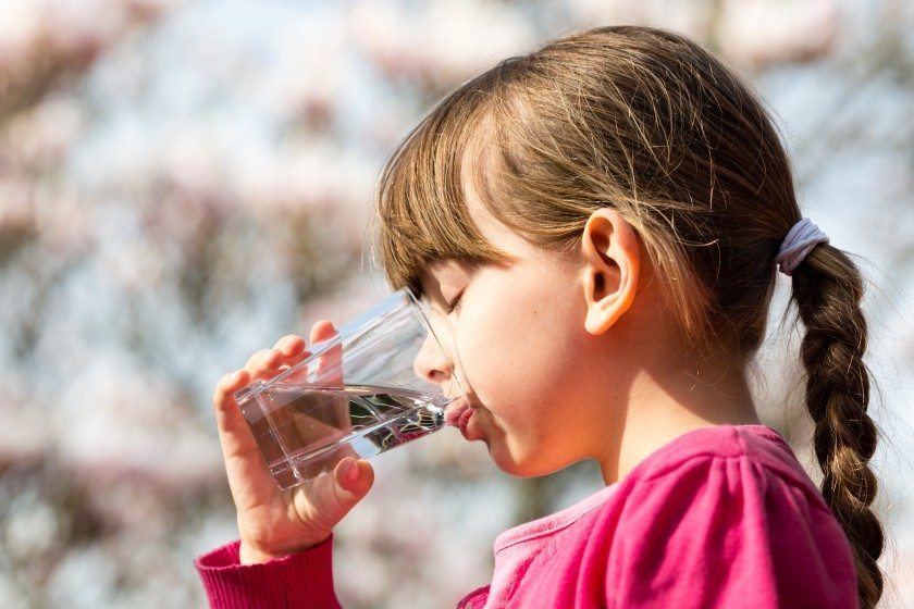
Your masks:
<svg viewBox="0 0 914 609"><path fill-rule="evenodd" d="M261 564L240 564L239 546L222 546L195 562L211 608L339 608L333 589L332 536L309 550Z"/></svg>

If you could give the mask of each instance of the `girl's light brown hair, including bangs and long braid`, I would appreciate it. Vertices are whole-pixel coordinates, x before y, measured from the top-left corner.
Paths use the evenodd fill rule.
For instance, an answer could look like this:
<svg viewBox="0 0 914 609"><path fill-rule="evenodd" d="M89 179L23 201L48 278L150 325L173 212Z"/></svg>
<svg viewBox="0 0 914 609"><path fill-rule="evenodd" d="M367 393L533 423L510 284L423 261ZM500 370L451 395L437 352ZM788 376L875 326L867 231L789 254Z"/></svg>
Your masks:
<svg viewBox="0 0 914 609"><path fill-rule="evenodd" d="M639 234L690 344L726 346L743 361L761 345L773 261L801 219L793 177L756 96L696 44L644 27L593 29L448 95L380 179L379 252L395 288L420 293L435 260L505 260L470 217L467 175L495 219L556 251L580 247L595 210L615 209ZM862 296L857 269L829 245L793 272L823 494L851 542L861 604L873 607L882 530L869 508L877 433Z"/></svg>

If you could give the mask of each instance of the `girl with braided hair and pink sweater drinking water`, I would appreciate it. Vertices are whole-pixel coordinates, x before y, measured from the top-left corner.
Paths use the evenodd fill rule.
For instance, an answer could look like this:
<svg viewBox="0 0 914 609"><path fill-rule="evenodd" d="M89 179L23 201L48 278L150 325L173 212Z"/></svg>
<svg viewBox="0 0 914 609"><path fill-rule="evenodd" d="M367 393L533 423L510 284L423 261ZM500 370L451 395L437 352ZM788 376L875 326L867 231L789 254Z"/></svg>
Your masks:
<svg viewBox="0 0 914 609"><path fill-rule="evenodd" d="M468 388L448 420L509 474L595 459L607 485L501 535L461 607L876 605L862 279L801 219L769 119L719 61L643 27L504 61L406 138L378 207L391 285L430 303L457 362L417 370ZM746 383L778 269L806 327L820 493ZM285 337L215 388L240 540L197 561L213 606L338 606L331 531L371 465L279 493L232 398L305 347Z"/></svg>

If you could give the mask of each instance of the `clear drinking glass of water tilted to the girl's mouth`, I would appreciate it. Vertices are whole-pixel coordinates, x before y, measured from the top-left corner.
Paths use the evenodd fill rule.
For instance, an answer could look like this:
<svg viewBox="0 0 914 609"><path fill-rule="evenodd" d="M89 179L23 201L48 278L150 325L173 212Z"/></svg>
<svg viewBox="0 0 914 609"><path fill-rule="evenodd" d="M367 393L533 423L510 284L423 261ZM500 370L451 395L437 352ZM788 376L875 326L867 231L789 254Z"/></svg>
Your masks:
<svg viewBox="0 0 914 609"><path fill-rule="evenodd" d="M420 353L437 361L446 355L408 289L307 349L301 362L235 394L283 489L345 457L366 459L441 430L447 405L464 396L456 375L445 396L417 372Z"/></svg>

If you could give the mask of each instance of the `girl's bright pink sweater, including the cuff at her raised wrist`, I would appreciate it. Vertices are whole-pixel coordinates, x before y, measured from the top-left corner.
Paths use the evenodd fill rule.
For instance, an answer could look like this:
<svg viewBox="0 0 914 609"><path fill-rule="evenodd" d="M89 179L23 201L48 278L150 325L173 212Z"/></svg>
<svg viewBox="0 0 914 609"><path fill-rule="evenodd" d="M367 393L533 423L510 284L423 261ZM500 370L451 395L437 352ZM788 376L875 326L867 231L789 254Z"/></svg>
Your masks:
<svg viewBox="0 0 914 609"><path fill-rule="evenodd" d="M238 543L197 559L215 608L337 608L332 538L265 564ZM625 478L495 542L461 608L857 607L851 548L783 439L762 425L688 433Z"/></svg>

